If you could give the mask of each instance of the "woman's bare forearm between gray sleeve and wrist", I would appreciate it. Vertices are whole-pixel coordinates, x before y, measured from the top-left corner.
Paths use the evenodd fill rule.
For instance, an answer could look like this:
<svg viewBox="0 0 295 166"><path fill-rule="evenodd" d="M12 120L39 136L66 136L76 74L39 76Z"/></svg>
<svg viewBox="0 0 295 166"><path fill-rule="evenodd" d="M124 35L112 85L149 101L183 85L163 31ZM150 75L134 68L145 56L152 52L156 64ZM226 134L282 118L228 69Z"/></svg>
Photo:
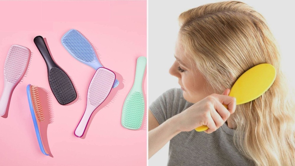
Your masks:
<svg viewBox="0 0 295 166"><path fill-rule="evenodd" d="M152 157L168 141L181 132L177 124L177 118L172 117L148 132L148 158Z"/></svg>

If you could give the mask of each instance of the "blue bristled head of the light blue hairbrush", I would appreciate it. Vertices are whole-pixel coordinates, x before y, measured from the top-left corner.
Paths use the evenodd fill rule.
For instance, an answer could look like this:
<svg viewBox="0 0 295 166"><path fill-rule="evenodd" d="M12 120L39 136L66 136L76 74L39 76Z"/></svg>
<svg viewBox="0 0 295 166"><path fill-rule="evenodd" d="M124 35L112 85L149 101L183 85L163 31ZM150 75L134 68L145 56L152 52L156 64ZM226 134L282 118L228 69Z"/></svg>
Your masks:
<svg viewBox="0 0 295 166"><path fill-rule="evenodd" d="M70 30L62 42L77 59L85 62L98 61L89 41L77 30Z"/></svg>

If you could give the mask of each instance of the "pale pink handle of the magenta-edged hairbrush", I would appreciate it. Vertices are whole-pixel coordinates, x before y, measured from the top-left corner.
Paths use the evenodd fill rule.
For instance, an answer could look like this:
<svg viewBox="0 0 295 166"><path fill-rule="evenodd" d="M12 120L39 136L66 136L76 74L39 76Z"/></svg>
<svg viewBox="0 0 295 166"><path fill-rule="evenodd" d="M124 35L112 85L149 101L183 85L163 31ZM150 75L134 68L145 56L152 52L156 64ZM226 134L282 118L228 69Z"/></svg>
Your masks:
<svg viewBox="0 0 295 166"><path fill-rule="evenodd" d="M86 129L86 126L89 122L89 119L90 119L90 116L91 114L93 113L93 111L96 109L96 106L94 105L91 105L88 101L87 101L87 105L86 105L86 110L84 112L84 115L82 116L75 132L74 132L74 135L76 137L81 137L83 136L84 132L85 132L85 129Z"/></svg>

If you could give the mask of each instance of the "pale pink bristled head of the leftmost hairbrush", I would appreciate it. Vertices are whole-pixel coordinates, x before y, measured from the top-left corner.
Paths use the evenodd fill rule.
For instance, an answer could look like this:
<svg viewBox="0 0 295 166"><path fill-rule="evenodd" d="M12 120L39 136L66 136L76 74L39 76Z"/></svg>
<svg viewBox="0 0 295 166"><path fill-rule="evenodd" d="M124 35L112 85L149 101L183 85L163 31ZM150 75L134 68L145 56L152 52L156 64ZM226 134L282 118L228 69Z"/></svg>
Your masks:
<svg viewBox="0 0 295 166"><path fill-rule="evenodd" d="M29 61L29 50L20 45L12 45L4 64L4 77L6 81L17 83L24 75Z"/></svg>

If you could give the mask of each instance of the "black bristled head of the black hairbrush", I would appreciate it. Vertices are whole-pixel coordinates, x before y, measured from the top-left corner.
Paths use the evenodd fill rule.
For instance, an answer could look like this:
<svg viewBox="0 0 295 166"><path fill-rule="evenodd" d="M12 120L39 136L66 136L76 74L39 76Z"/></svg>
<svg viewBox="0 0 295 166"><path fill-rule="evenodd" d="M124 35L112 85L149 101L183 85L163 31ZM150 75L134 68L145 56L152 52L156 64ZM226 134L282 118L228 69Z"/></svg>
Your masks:
<svg viewBox="0 0 295 166"><path fill-rule="evenodd" d="M77 97L76 90L65 72L53 67L48 74L50 88L61 105L74 101Z"/></svg>

